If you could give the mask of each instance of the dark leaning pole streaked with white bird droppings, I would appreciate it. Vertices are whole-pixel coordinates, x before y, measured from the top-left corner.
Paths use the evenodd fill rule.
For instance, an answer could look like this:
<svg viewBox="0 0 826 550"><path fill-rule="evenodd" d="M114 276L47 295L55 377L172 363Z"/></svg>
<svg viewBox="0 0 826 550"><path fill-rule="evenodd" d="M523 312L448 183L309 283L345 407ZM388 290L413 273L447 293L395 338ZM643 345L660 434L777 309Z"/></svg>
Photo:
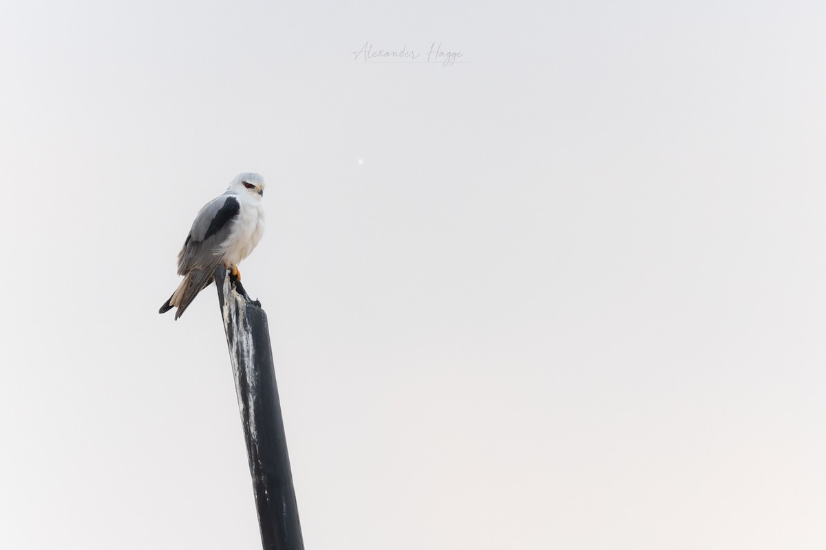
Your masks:
<svg viewBox="0 0 826 550"><path fill-rule="evenodd" d="M264 550L304 550L278 401L267 314L219 267L218 303L230 348Z"/></svg>

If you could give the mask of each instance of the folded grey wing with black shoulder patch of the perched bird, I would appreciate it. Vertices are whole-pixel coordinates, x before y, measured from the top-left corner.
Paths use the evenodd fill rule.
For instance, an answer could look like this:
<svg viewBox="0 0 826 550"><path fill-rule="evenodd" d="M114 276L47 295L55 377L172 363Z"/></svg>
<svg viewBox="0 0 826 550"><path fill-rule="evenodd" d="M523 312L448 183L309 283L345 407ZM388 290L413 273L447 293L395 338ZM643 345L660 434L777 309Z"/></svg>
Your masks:
<svg viewBox="0 0 826 550"><path fill-rule="evenodd" d="M178 253L178 275L191 270L211 273L221 264L221 243L230 236L240 210L241 204L234 195L221 195L204 205Z"/></svg>

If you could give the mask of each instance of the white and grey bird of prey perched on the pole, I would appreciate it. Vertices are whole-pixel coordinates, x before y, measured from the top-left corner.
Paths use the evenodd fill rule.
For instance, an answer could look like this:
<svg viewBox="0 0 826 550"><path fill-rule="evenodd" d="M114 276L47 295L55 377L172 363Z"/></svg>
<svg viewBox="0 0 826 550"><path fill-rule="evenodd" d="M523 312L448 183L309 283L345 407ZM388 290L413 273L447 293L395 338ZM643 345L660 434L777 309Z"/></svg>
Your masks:
<svg viewBox="0 0 826 550"><path fill-rule="evenodd" d="M263 236L261 198L266 185L260 174L244 172L198 212L178 252L178 275L183 275L183 281L158 313L178 308L175 319L181 317L195 296L209 286L221 264L240 280L238 264Z"/></svg>

